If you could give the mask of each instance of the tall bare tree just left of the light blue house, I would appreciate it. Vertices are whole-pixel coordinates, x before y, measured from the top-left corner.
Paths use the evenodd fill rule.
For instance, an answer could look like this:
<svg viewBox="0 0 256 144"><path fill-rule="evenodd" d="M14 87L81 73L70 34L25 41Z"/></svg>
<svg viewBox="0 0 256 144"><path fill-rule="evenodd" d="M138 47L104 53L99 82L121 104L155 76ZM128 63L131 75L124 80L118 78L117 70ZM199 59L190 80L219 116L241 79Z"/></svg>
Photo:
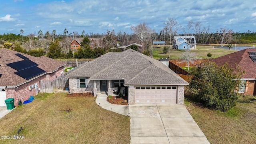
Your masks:
<svg viewBox="0 0 256 144"><path fill-rule="evenodd" d="M182 27L178 25L178 21L174 20L173 18L168 18L168 22L164 22L165 27L164 30L169 34L170 38L170 46L169 46L169 54L168 58L170 58L170 49L172 44L172 36L177 33Z"/></svg>

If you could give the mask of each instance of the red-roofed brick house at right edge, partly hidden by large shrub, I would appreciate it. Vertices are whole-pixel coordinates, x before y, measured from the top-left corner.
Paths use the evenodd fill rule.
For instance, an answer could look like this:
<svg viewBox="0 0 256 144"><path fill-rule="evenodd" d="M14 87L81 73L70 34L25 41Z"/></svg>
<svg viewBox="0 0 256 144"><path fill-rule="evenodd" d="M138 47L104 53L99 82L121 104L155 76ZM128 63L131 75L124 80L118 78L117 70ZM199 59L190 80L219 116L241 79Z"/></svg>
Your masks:
<svg viewBox="0 0 256 144"><path fill-rule="evenodd" d="M256 95L256 48L240 50L232 54L214 58L212 61L218 65L223 65L227 62L232 67L236 67L236 64L240 66L241 70L244 70L246 74L241 79L244 84L240 86L239 93Z"/></svg>

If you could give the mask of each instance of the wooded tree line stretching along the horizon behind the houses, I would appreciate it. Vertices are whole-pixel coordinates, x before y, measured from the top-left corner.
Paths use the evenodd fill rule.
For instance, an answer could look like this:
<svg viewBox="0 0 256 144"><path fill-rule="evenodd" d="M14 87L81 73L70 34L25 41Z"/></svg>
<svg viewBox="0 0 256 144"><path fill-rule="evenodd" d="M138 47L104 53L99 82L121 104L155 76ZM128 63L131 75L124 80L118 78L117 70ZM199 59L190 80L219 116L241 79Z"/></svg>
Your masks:
<svg viewBox="0 0 256 144"><path fill-rule="evenodd" d="M4 48L18 50L34 56L96 58L106 52L122 51L122 49L117 48L117 44L126 46L132 43L141 44L142 48L138 48L138 51L152 56L154 51L153 41L165 41L171 48L174 36L195 36L197 44L220 44L221 47L228 43L256 43L256 32L240 33L233 32L228 28L220 28L216 32L210 32L210 26L202 28L199 22L189 21L185 27L182 27L173 18L169 18L167 22L164 22L164 25L164 28L157 33L146 23L140 23L137 26L131 26L132 34L122 31L115 32L114 30L107 30L106 33L102 34L92 32L85 34L83 30L79 34L78 32L70 33L65 28L61 34L57 34L56 30L45 33L39 30L33 34L24 35L24 30L20 30L20 34L0 34L0 44ZM81 45L80 49L74 50L70 47L70 43L76 38L88 38L89 40ZM95 38L97 40L92 44L90 40ZM188 39L188 43L190 43L189 41ZM113 50L112 48L117 49ZM60 52L60 54L52 55L52 51Z"/></svg>

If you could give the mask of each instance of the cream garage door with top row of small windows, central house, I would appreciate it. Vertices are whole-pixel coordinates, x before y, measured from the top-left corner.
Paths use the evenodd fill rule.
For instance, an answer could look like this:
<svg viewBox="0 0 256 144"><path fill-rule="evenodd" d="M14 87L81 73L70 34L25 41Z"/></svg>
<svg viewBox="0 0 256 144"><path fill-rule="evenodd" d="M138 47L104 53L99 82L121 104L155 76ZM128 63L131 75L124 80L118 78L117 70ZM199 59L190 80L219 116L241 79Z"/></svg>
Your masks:
<svg viewBox="0 0 256 144"><path fill-rule="evenodd" d="M135 104L177 103L177 86L135 86Z"/></svg>

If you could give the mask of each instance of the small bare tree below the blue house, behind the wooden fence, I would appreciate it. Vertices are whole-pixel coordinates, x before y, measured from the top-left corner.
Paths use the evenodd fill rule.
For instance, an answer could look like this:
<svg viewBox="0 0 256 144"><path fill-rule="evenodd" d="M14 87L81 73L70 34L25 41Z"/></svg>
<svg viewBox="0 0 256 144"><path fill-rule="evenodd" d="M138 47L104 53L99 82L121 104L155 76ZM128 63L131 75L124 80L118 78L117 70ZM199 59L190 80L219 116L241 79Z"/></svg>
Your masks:
<svg viewBox="0 0 256 144"><path fill-rule="evenodd" d="M190 49L186 49L185 52L181 55L181 62L186 62L188 64L188 71L189 71L189 64L195 63L195 60L198 60L200 58L196 57L196 53L195 52L190 52Z"/></svg>

